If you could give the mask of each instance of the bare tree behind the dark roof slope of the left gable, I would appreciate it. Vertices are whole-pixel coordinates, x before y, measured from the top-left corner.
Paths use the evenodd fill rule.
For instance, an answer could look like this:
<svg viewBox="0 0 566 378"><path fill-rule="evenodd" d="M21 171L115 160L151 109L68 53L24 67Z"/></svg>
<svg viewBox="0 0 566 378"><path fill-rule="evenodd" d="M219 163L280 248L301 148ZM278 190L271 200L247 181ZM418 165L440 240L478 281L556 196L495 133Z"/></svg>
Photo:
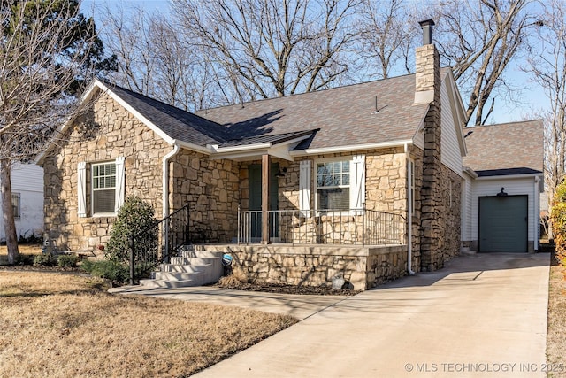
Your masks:
<svg viewBox="0 0 566 378"><path fill-rule="evenodd" d="M118 61L111 76L117 84L186 111L224 103L209 58L183 39L171 17L116 5L102 18L106 46Z"/></svg>

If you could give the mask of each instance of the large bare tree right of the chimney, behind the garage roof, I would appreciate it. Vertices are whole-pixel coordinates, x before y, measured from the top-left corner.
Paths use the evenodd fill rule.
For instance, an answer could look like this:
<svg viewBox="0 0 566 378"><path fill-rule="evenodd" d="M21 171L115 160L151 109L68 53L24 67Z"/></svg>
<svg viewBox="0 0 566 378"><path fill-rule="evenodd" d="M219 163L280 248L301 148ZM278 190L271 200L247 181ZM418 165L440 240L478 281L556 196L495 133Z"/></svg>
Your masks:
<svg viewBox="0 0 566 378"><path fill-rule="evenodd" d="M482 125L493 91L505 83L509 63L528 42L532 27L542 22L532 0L447 0L436 29L440 55L453 66L455 79L470 89L466 109L472 125Z"/></svg>

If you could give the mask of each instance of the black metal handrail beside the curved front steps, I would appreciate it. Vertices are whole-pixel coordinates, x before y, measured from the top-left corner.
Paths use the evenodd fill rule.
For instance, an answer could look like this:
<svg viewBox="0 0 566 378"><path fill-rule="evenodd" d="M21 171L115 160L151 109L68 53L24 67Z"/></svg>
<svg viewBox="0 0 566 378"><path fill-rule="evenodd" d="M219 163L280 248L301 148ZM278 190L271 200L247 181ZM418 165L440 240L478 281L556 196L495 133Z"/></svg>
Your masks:
<svg viewBox="0 0 566 378"><path fill-rule="evenodd" d="M189 208L190 204L185 204L130 237L130 284L138 283L160 263L168 262L180 247L190 244Z"/></svg>

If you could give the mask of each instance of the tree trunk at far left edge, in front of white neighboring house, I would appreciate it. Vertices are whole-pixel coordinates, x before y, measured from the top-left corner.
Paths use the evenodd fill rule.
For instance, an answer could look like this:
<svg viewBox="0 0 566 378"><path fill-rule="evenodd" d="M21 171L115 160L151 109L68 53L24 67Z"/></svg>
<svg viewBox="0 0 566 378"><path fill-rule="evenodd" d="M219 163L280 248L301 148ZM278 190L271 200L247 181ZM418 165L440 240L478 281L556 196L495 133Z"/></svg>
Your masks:
<svg viewBox="0 0 566 378"><path fill-rule="evenodd" d="M6 246L8 247L8 264L13 265L18 257L18 235L16 235L16 222L14 209L11 206L11 162L9 159L0 160L0 192L2 194L2 217Z"/></svg>

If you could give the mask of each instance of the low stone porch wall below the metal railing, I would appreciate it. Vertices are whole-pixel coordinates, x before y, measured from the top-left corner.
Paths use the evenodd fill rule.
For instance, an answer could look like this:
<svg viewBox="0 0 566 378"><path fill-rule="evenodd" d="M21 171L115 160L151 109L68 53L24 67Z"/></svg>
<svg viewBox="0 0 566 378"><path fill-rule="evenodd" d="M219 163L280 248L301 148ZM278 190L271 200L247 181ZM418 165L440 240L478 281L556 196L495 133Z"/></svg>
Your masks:
<svg viewBox="0 0 566 378"><path fill-rule="evenodd" d="M407 246L344 247L230 245L206 246L233 256L251 282L331 287L341 276L350 289L365 290L407 272Z"/></svg>

